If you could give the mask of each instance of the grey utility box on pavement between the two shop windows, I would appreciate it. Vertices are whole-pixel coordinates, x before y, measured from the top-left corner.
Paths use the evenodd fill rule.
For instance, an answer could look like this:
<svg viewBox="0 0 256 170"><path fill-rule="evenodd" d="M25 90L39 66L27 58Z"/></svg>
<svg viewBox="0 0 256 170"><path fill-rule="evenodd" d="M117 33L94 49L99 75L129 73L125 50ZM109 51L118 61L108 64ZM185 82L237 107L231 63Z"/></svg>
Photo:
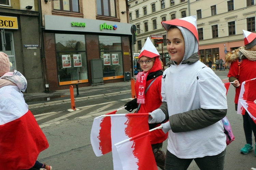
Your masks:
<svg viewBox="0 0 256 170"><path fill-rule="evenodd" d="M103 83L102 59L92 59L91 62L91 83Z"/></svg>

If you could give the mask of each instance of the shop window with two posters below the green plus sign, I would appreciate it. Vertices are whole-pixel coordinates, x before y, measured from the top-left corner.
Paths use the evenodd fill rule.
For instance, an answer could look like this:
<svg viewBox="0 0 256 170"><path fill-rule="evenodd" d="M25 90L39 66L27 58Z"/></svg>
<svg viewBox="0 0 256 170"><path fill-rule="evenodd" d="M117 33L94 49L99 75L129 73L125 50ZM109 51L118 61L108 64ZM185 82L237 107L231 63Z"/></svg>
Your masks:
<svg viewBox="0 0 256 170"><path fill-rule="evenodd" d="M124 78L121 37L99 36L103 80Z"/></svg>

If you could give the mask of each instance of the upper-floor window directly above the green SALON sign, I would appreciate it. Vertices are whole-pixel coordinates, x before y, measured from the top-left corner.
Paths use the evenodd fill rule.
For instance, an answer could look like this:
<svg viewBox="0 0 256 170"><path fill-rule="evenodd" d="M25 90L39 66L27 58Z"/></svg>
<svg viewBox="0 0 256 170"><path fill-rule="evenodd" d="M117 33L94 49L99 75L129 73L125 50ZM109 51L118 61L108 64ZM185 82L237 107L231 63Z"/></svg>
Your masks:
<svg viewBox="0 0 256 170"><path fill-rule="evenodd" d="M79 0L53 1L54 10L79 12Z"/></svg>

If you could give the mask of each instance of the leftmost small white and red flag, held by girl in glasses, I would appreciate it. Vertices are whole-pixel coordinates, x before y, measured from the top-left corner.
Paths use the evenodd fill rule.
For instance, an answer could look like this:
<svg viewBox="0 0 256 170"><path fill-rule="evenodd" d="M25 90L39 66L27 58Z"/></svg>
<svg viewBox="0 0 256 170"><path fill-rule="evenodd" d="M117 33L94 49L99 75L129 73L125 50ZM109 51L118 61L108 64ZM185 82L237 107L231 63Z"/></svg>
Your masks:
<svg viewBox="0 0 256 170"><path fill-rule="evenodd" d="M116 112L117 110L106 115L115 114ZM90 140L96 156L102 156L112 151L110 117L99 116L94 118Z"/></svg>

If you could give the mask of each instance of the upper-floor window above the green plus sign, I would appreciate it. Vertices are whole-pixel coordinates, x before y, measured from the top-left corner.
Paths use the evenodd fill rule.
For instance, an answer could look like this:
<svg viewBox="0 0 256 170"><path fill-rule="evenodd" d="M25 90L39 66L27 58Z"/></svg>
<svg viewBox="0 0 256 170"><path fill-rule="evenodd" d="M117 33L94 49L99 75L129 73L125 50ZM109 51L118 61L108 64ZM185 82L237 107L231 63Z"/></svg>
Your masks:
<svg viewBox="0 0 256 170"><path fill-rule="evenodd" d="M96 0L97 15L116 17L115 0Z"/></svg>

